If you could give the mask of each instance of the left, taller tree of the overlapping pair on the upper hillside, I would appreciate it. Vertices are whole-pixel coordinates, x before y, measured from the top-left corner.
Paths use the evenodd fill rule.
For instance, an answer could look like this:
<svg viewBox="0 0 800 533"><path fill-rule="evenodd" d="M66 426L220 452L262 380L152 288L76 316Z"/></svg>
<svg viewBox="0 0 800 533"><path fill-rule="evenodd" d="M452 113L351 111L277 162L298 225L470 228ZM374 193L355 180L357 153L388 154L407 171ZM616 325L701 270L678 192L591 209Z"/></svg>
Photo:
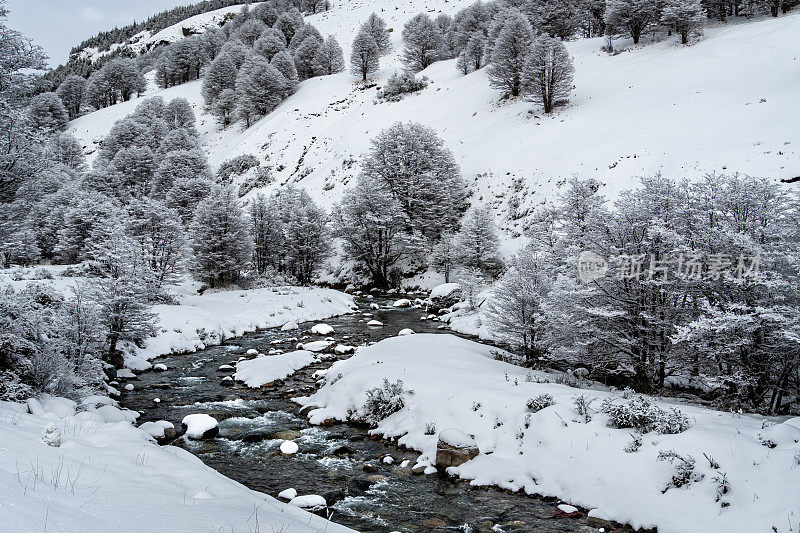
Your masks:
<svg viewBox="0 0 800 533"><path fill-rule="evenodd" d="M492 44L489 83L511 96L522 90L522 72L533 44L533 30L518 11L505 13L502 29Z"/></svg>

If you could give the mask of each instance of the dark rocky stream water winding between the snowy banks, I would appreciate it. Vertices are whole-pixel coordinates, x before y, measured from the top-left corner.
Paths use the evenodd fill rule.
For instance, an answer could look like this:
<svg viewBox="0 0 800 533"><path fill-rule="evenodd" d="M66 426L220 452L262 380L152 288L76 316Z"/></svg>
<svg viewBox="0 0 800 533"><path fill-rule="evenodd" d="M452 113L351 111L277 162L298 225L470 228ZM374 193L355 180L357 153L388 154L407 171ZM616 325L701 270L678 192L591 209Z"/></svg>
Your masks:
<svg viewBox="0 0 800 533"><path fill-rule="evenodd" d="M391 302L376 298L379 310L362 300L357 313L324 322L336 329L332 335L343 344L359 345L396 335L403 328L417 333L444 333L437 321L422 321L421 309L394 309ZM373 316L363 316L370 313ZM375 318L383 328L368 328ZM225 387L222 364L236 361L249 348L266 353L275 347L289 351L297 340L308 336L312 323L300 331L265 330L230 339L197 353L171 355L158 362L164 372L146 372L133 381L125 407L142 412L140 422L169 420L180 427L192 413L207 413L220 420L220 434L209 441L178 438L181 446L204 463L244 485L277 496L294 487L300 494L326 498L332 520L364 532L465 531L465 532L558 532L597 531L585 517L555 518L557 501L545 501L491 488L473 488L467 482L411 473L417 453L400 450L388 442L370 440L367 431L349 425L311 427L298 416L299 406L290 399L307 396L316 389L311 375L333 360L316 363L287 378L282 386L258 390L244 386ZM318 338L317 338L318 339ZM316 340L311 339L309 340ZM273 344L280 342L280 344ZM349 356L342 356L349 357ZM154 399L159 398L160 403ZM297 432L300 452L284 457L275 433ZM287 437L287 435L279 435ZM382 459L390 455L393 464ZM401 467L404 460L410 461ZM607 528L606 531L609 531ZM626 529L625 531L630 531Z"/></svg>

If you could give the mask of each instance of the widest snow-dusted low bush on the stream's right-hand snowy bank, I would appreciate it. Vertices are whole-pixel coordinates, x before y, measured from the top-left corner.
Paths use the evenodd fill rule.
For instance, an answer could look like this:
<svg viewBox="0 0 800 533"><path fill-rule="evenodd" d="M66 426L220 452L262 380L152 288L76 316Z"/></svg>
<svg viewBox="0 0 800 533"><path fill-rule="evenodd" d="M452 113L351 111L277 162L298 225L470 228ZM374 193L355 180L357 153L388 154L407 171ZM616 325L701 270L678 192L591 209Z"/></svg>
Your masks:
<svg viewBox="0 0 800 533"><path fill-rule="evenodd" d="M633 428L640 433L681 433L691 426L688 417L679 409L673 407L664 411L643 397L627 403L614 403L612 398L606 398L600 410L609 415L611 427Z"/></svg>

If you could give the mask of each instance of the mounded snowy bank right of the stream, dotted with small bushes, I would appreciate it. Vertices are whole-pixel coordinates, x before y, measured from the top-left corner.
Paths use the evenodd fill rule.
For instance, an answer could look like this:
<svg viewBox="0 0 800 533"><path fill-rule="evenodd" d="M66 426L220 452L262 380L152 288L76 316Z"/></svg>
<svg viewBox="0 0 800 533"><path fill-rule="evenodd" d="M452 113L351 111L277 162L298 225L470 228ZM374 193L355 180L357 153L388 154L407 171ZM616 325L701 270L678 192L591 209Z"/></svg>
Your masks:
<svg viewBox="0 0 800 533"><path fill-rule="evenodd" d="M342 377L298 400L318 407L309 413L312 423L345 420L348 411L364 405L365 391L384 378L401 380L413 393L373 432L421 451L422 464L435 462L431 427L434 433L473 435L481 454L450 472L475 485L557 496L635 527L657 526L661 533L773 526L786 532L800 523L800 431L790 423L768 427L771 422L762 417L681 405L690 429L647 433L638 451L626 453L633 430L607 427L608 416L598 412L587 423L573 404L586 394L596 398L596 411L603 398L624 401L619 393L544 382L547 374L497 361L490 347L450 335L389 338L337 362L327 375ZM526 403L540 394L551 395L555 405L531 413ZM703 478L662 493L676 471L657 457L670 450L693 457ZM712 468L704 454L719 467ZM730 483L721 499L727 507L715 501L714 478L721 473Z"/></svg>

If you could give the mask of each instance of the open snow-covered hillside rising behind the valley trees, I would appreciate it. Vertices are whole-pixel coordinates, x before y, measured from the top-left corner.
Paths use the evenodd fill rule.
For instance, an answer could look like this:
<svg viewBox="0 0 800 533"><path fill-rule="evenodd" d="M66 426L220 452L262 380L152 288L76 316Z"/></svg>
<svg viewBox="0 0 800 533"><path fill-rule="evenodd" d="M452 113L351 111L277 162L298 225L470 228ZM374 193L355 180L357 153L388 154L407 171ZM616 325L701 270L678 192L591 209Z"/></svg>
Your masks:
<svg viewBox="0 0 800 533"><path fill-rule="evenodd" d="M358 173L353 163L370 139L398 120L433 127L472 185L473 201L492 203L503 218L519 179L524 208L573 175L598 178L613 195L636 176L659 171L676 178L713 171L773 178L800 173L798 79L787 68L798 62L800 14L710 28L688 47L668 39L612 56L600 51L601 39L570 42L576 89L569 107L550 117L525 101L500 101L485 70L464 76L454 60L423 71L431 83L420 93L379 102L380 84L401 68L404 22L420 11L453 14L467 4L353 2L307 17L323 35L335 35L347 56L356 28L376 11L393 28L393 51L381 58L375 84L356 84L348 72L307 80L247 130L237 124L219 131L203 111L199 81L151 87L147 96L184 97L193 104L213 167L235 155L257 155L272 167L273 187L297 183L326 206ZM81 117L71 131L94 150L113 121L140 101Z"/></svg>

